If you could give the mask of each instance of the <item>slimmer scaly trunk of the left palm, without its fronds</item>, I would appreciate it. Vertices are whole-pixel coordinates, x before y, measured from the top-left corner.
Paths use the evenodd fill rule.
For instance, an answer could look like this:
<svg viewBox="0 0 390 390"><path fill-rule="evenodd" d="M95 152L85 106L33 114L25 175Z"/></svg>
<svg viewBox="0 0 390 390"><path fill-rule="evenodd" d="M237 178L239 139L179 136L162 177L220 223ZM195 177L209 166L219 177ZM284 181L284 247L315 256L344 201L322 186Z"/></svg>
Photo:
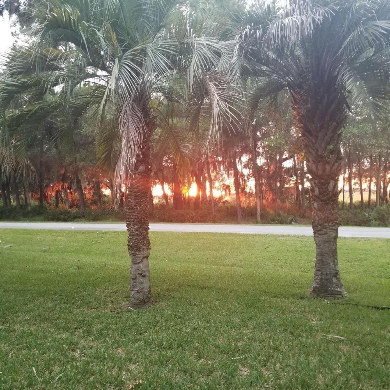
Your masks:
<svg viewBox="0 0 390 390"><path fill-rule="evenodd" d="M150 302L149 191L151 189L150 134L137 155L126 197L126 227L131 259L130 303L133 308Z"/></svg>

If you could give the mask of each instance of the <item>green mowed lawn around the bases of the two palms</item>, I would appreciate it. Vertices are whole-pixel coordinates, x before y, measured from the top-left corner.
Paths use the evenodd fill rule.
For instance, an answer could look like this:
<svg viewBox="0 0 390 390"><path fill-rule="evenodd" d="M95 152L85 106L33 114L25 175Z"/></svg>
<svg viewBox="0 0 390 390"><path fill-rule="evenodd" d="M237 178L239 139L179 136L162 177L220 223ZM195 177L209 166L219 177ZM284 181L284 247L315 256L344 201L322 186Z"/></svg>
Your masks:
<svg viewBox="0 0 390 390"><path fill-rule="evenodd" d="M312 238L0 230L1 389L389 389L390 310L309 295ZM12 247L4 248L12 244ZM390 305L390 241L339 239L343 302Z"/></svg>

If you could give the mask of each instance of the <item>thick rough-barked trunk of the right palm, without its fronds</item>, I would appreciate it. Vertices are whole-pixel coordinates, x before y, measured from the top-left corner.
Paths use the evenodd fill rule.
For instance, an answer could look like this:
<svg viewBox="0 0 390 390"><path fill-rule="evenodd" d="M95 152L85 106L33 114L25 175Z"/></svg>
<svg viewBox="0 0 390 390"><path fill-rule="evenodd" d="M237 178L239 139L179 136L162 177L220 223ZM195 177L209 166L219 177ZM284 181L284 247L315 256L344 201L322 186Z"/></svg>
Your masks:
<svg viewBox="0 0 390 390"><path fill-rule="evenodd" d="M335 85L335 77L310 83L304 80L293 98L294 117L301 131L311 177L312 227L316 243L311 293L323 298L340 298L346 294L337 258L340 138L346 109Z"/></svg>

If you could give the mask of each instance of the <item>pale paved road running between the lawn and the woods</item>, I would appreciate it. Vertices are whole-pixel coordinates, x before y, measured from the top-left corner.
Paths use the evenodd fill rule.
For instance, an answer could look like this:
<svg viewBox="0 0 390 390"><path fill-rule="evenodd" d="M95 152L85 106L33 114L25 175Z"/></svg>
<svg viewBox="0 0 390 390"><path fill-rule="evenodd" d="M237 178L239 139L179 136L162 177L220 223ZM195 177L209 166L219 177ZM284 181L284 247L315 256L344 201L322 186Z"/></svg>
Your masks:
<svg viewBox="0 0 390 390"><path fill-rule="evenodd" d="M49 230L111 230L124 231L124 223L72 223L72 222L0 222L0 229L49 229ZM151 231L207 232L244 234L287 234L311 236L310 226L283 225L202 225L198 223L151 223ZM340 237L390 238L386 227L340 227Z"/></svg>

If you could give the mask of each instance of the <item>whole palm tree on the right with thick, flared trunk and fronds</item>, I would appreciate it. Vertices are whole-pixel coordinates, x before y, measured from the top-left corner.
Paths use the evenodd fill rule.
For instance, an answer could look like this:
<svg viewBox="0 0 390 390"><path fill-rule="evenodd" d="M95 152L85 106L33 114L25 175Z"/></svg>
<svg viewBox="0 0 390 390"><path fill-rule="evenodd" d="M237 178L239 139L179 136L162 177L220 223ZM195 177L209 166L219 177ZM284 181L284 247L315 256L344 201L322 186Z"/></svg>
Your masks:
<svg viewBox="0 0 390 390"><path fill-rule="evenodd" d="M337 259L340 139L351 108L385 111L389 38L387 0L268 4L239 35L243 76L258 80L252 99L275 107L278 96L290 96L310 175L317 296L346 293Z"/></svg>

